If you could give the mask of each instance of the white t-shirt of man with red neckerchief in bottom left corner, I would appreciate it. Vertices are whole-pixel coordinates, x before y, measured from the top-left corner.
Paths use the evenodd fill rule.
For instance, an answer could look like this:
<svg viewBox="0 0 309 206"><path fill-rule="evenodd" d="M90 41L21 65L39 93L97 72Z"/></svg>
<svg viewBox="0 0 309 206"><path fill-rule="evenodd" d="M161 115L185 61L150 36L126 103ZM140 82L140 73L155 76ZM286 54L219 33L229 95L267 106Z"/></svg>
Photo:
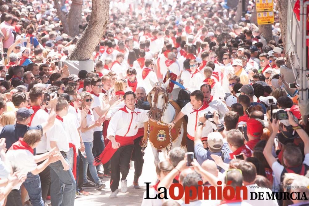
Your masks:
<svg viewBox="0 0 309 206"><path fill-rule="evenodd" d="M27 149L11 149L7 151L6 158L23 174L27 174L37 167L33 154ZM19 183L13 187L13 190L19 190L21 184Z"/></svg>

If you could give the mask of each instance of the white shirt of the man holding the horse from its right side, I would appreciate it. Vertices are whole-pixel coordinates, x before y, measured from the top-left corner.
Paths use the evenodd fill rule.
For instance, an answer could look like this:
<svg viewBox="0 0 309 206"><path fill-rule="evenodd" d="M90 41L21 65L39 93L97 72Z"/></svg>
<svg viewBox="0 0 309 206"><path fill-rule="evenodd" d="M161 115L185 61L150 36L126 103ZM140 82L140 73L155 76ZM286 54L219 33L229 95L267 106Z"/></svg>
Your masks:
<svg viewBox="0 0 309 206"><path fill-rule="evenodd" d="M199 109L201 109L202 107L203 105ZM187 132L189 136L194 137L199 117L204 115L208 111L213 113L215 109L212 107L207 107L201 111L194 112L191 103L187 103L186 106L181 109L181 112L188 116ZM205 122L205 127L203 127L202 137L207 137L207 135L213 131L213 128L216 129L216 125L207 120Z"/></svg>

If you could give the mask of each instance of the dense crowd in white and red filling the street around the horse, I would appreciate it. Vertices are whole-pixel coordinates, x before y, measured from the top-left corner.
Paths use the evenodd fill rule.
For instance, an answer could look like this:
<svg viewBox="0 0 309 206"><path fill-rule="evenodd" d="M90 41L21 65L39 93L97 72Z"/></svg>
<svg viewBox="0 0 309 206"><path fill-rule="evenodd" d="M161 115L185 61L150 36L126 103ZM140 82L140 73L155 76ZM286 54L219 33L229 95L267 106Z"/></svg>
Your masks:
<svg viewBox="0 0 309 206"><path fill-rule="evenodd" d="M61 12L71 3L61 1ZM276 13L267 42L251 23L252 1L239 20L228 1L110 1L109 24L90 57L95 66L76 75L65 62L79 37L64 32L53 1L1 4L0 205L74 205L90 194L85 188L104 188L104 177L116 198L128 190L131 160L139 189L147 95L168 79L181 111L166 123L188 121L187 145L157 162L150 196L199 181L309 196L308 121L290 84L298 74L287 66ZM83 1L80 33L90 14L91 1ZM144 198L142 205L185 204ZM309 204L294 199L189 205Z"/></svg>

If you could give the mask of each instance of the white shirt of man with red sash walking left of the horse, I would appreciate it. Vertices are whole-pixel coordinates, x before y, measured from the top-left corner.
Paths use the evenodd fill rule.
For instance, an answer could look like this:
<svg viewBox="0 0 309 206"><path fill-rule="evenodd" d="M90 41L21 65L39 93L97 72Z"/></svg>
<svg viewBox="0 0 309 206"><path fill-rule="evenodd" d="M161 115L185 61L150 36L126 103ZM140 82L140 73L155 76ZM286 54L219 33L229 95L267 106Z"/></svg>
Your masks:
<svg viewBox="0 0 309 206"><path fill-rule="evenodd" d="M128 107L123 108L129 113L118 110L112 116L107 128L107 137L115 137L116 135L121 137L132 137L137 134L139 123L149 120L147 115L149 110L135 108L134 111L131 111Z"/></svg>

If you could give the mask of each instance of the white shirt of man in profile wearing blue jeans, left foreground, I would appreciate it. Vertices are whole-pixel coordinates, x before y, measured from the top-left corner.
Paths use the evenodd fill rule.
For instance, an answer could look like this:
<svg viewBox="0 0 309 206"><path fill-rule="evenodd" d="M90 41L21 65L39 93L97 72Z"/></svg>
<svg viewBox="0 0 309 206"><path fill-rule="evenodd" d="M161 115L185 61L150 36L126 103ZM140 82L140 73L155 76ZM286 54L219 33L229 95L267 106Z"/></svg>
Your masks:
<svg viewBox="0 0 309 206"><path fill-rule="evenodd" d="M59 151L67 152L69 151L69 134L65 128L65 124L56 119L52 128L46 132L46 149L50 151L50 141L57 142L57 147Z"/></svg>

